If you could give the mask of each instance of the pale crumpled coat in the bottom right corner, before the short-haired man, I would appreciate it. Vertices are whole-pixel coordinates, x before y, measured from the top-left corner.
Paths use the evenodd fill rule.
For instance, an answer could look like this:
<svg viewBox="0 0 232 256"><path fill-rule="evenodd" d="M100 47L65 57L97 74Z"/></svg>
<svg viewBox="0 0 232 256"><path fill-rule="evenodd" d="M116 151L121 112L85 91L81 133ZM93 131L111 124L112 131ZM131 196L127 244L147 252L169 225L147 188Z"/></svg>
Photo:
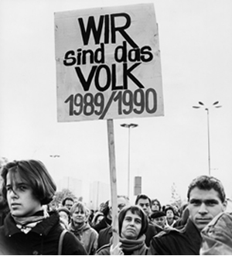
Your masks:
<svg viewBox="0 0 232 256"><path fill-rule="evenodd" d="M201 232L202 255L232 255L232 213L220 213Z"/></svg>

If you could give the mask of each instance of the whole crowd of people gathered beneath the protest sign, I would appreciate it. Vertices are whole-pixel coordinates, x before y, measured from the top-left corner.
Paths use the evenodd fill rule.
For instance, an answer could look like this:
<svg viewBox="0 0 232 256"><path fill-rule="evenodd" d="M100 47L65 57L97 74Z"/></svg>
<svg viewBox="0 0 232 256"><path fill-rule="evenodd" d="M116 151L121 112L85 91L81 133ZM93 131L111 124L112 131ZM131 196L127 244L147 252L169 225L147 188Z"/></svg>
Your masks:
<svg viewBox="0 0 232 256"><path fill-rule="evenodd" d="M118 230L111 200L96 211L72 196L53 204L56 184L43 162L8 162L1 176L0 254L232 254L232 213L212 176L193 179L182 207L118 196Z"/></svg>

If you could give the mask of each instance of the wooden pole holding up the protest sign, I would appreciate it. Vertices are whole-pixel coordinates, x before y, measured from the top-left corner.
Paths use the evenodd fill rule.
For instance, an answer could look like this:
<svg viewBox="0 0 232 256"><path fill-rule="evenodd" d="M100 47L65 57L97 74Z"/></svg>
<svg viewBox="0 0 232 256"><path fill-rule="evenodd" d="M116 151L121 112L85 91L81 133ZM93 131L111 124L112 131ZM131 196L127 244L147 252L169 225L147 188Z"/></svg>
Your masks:
<svg viewBox="0 0 232 256"><path fill-rule="evenodd" d="M114 153L114 123L113 119L107 119L107 135L110 159L110 178L111 178L111 205L112 205L112 230L113 246L119 242L118 236L118 197L117 197L117 178Z"/></svg>

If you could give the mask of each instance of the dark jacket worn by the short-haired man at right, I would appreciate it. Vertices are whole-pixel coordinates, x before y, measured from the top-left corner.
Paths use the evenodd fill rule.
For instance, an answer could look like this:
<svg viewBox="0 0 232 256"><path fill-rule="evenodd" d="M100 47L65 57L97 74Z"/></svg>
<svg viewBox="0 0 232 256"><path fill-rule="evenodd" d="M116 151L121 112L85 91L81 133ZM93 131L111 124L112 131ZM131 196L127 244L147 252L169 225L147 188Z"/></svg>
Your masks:
<svg viewBox="0 0 232 256"><path fill-rule="evenodd" d="M199 255L202 238L199 230L189 219L181 230L171 228L152 238L150 255Z"/></svg>

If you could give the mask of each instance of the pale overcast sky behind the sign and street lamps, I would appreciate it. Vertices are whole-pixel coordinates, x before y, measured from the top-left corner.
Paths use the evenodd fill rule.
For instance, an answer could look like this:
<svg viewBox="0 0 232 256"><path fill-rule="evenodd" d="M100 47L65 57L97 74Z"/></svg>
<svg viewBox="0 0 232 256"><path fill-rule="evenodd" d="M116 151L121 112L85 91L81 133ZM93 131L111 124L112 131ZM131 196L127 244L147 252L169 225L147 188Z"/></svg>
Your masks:
<svg viewBox="0 0 232 256"><path fill-rule="evenodd" d="M208 174L206 111L210 107L211 173L232 196L232 2L153 0L159 24L163 117L114 120L118 193L127 193L128 129L131 194L168 203L172 183L183 199L190 181ZM73 176L109 183L107 121L56 121L54 12L143 1L0 1L0 156L40 159L56 182ZM222 108L213 108L220 101ZM50 155L60 155L51 158Z"/></svg>

